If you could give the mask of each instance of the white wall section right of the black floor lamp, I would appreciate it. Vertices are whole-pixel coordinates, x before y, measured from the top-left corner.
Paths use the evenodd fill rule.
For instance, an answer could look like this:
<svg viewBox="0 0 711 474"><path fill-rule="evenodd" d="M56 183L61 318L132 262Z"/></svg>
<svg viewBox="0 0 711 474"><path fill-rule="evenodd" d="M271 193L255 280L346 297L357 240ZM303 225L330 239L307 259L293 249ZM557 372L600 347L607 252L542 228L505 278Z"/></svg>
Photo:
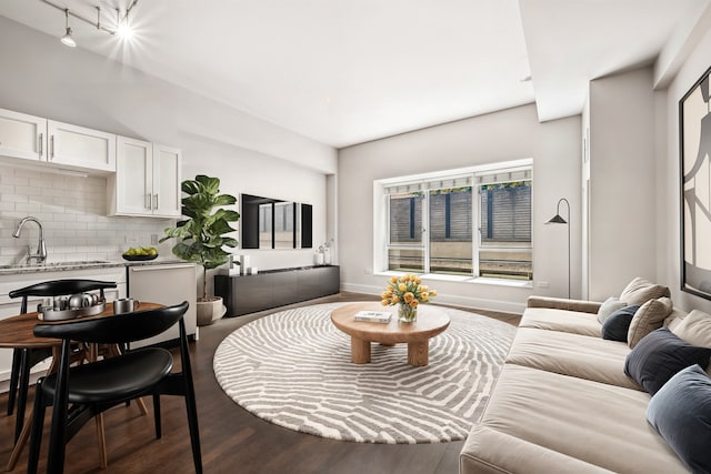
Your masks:
<svg viewBox="0 0 711 474"><path fill-rule="evenodd" d="M652 69L590 83L588 297L619 295L657 275L655 107ZM587 173L583 173L585 175Z"/></svg>

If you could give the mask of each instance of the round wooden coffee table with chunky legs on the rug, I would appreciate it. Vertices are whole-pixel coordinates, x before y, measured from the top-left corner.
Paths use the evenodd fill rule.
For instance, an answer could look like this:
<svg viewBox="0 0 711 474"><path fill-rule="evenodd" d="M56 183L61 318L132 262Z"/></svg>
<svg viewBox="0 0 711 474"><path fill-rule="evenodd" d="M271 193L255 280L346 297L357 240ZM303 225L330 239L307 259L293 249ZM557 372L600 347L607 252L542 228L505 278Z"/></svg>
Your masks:
<svg viewBox="0 0 711 474"><path fill-rule="evenodd" d="M389 311L392 317L388 324L356 321L359 311ZM383 345L408 344L408 364L424 366L430 357L430 339L449 326L449 316L441 310L427 304L418 307L414 323L398 321L397 306L382 306L380 303L353 303L333 310L333 325L351 336L351 361L356 364L370 362L370 343Z"/></svg>

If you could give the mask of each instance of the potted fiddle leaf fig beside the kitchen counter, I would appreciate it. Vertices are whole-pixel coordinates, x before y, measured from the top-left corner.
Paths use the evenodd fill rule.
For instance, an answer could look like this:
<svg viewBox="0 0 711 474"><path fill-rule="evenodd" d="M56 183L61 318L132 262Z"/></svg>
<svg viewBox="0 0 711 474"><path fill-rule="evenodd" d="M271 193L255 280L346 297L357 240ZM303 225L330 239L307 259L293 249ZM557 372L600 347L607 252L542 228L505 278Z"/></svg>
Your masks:
<svg viewBox="0 0 711 474"><path fill-rule="evenodd" d="M236 248L237 240L228 236L236 232L230 222L237 222L240 214L224 205L237 203L237 198L220 194L220 179L198 174L194 180L181 183L184 194L181 212L188 219L178 221L174 228L164 230L160 242L177 239L172 252L179 259L202 266L202 296L198 297L198 325L211 324L222 315L222 299L208 296L208 270L229 261L230 252L224 248Z"/></svg>

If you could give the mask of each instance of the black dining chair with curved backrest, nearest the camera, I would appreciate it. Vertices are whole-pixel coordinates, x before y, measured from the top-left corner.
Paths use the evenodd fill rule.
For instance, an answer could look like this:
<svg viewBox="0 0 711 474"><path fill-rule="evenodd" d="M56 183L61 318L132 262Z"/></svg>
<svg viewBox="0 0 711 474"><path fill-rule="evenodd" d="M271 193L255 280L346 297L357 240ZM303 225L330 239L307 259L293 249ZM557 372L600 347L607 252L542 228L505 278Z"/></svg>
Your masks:
<svg viewBox="0 0 711 474"><path fill-rule="evenodd" d="M188 336L183 315L188 302L149 311L90 317L34 326L34 335L62 340L58 370L37 382L28 473L37 473L47 406L52 406L48 473L62 473L66 444L92 416L127 401L153 396L156 437L161 437L160 395L186 399L188 426L196 473L202 473L198 410L196 405ZM70 366L72 341L97 344L128 344L144 340L179 324L181 372L171 372L173 359L162 347L130 350L114 357Z"/></svg>

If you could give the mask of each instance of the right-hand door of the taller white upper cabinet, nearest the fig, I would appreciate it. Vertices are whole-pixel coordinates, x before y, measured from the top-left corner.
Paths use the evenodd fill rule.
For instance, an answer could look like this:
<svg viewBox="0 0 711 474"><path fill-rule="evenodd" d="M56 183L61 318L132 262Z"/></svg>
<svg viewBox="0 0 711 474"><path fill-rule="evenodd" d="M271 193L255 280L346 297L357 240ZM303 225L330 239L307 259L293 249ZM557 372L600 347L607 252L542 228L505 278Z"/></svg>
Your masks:
<svg viewBox="0 0 711 474"><path fill-rule="evenodd" d="M180 218L180 163L177 148L153 144L153 215Z"/></svg>

